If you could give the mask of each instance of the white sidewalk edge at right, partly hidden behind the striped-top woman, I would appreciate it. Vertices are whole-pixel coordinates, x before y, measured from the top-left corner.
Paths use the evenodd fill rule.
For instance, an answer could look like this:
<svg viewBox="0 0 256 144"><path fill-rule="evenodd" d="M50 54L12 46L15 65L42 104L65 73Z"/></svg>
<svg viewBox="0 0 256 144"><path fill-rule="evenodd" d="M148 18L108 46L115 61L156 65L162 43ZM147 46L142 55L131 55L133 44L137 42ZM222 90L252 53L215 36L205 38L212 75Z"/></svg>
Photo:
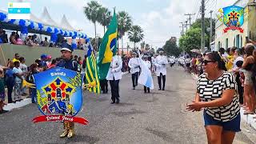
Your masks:
<svg viewBox="0 0 256 144"><path fill-rule="evenodd" d="M198 76L196 74L191 74L194 80L198 80ZM256 130L256 114L244 114L245 110L240 108L241 120L242 122L246 122L247 125L251 126Z"/></svg>

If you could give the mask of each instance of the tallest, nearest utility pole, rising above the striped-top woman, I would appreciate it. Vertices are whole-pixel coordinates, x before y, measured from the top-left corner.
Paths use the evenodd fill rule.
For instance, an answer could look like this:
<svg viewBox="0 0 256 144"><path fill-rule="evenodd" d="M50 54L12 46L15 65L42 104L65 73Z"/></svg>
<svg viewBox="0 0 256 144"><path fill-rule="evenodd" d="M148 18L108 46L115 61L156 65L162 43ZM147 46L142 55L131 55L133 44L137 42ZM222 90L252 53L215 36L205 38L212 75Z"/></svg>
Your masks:
<svg viewBox="0 0 256 144"><path fill-rule="evenodd" d="M202 34L201 34L201 51L205 52L205 46L206 46L206 42L205 42L205 30L206 30L206 26L205 26L205 0L202 0L202 6L201 6L201 14L202 14Z"/></svg>

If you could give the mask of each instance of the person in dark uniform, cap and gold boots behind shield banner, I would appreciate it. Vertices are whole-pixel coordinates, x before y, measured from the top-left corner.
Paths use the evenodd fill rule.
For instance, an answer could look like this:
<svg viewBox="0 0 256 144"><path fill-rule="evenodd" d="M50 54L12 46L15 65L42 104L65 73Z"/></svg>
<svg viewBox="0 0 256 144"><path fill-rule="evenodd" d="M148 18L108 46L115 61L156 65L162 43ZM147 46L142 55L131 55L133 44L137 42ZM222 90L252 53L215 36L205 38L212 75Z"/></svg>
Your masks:
<svg viewBox="0 0 256 144"><path fill-rule="evenodd" d="M67 43L62 45L62 61L58 62L56 66L63 67L69 70L78 71L78 63L74 60L72 60L72 52L73 49L71 46ZM64 113L63 113L64 114ZM64 138L67 136L67 138L72 138L74 136L74 122L66 122L64 121L64 131L60 135L61 138Z"/></svg>

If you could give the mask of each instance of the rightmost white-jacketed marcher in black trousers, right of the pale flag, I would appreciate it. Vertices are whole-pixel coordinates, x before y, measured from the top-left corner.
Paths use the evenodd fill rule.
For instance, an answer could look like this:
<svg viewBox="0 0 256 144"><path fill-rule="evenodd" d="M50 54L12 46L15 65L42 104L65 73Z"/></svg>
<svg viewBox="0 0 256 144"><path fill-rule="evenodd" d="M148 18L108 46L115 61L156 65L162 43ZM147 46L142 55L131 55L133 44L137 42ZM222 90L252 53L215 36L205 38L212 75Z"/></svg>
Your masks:
<svg viewBox="0 0 256 144"><path fill-rule="evenodd" d="M159 50L159 55L154 61L154 66L156 66L156 74L158 76L158 90L165 90L166 86L166 65L168 64L168 60L163 53L163 50Z"/></svg>

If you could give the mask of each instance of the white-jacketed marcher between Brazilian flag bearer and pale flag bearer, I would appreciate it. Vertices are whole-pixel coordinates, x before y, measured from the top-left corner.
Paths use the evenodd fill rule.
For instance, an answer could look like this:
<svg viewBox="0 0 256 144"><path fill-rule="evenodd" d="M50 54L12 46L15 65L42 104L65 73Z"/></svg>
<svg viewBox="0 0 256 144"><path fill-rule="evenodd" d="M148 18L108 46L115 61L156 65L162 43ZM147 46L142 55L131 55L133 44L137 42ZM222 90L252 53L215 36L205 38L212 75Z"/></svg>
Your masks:
<svg viewBox="0 0 256 144"><path fill-rule="evenodd" d="M138 86L138 73L139 73L139 66L140 66L140 62L137 58L136 52L132 53L132 58L130 58L128 62L128 66L130 67L131 79L132 79L133 87L135 90L135 87Z"/></svg>

